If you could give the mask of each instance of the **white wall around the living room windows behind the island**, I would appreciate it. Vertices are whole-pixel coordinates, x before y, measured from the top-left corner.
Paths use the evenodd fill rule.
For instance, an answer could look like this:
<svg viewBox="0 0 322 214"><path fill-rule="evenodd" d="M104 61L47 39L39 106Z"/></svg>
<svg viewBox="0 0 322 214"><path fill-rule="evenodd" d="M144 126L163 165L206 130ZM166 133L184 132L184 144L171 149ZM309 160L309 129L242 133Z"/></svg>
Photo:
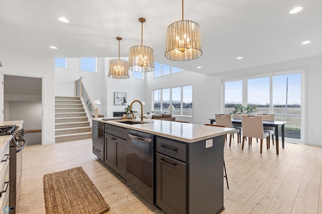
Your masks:
<svg viewBox="0 0 322 214"><path fill-rule="evenodd" d="M220 112L221 83L218 78L191 71L184 71L146 81L146 110L151 111L151 90L193 85L193 117L176 117L176 120L189 121L195 124L210 123L209 119Z"/></svg>

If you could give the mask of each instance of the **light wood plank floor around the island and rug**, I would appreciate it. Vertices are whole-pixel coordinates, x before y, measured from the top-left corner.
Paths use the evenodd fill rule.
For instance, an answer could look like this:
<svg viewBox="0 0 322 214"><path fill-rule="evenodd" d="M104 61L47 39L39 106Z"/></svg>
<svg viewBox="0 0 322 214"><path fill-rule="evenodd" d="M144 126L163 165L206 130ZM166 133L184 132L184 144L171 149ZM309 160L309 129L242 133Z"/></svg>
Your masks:
<svg viewBox="0 0 322 214"><path fill-rule="evenodd" d="M285 143L276 155L275 147L267 150L264 145L262 155L256 140L244 151L236 138L230 148L225 145L229 190L223 180L223 213L322 213L322 148ZM23 152L17 205L30 213L45 213L43 175L77 166L83 167L111 207L107 213L164 213L92 153L91 139L32 145Z"/></svg>

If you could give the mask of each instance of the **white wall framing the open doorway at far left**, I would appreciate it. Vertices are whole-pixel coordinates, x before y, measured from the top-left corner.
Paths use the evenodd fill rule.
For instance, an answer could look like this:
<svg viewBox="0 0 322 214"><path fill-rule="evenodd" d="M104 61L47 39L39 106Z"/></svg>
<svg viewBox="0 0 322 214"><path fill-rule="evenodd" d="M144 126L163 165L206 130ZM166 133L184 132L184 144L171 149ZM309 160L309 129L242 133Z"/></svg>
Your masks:
<svg viewBox="0 0 322 214"><path fill-rule="evenodd" d="M3 67L0 67L2 75L42 78L42 144L55 143L54 59L4 48L0 48L0 59L3 62ZM3 93L0 100L4 100Z"/></svg>

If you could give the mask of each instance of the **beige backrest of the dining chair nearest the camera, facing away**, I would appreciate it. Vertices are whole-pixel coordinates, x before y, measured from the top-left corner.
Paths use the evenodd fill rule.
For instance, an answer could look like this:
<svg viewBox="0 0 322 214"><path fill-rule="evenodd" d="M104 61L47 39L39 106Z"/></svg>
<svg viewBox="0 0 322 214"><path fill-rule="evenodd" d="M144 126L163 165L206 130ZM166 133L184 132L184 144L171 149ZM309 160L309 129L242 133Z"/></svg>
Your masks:
<svg viewBox="0 0 322 214"><path fill-rule="evenodd" d="M244 137L264 138L262 116L241 115L241 129Z"/></svg>

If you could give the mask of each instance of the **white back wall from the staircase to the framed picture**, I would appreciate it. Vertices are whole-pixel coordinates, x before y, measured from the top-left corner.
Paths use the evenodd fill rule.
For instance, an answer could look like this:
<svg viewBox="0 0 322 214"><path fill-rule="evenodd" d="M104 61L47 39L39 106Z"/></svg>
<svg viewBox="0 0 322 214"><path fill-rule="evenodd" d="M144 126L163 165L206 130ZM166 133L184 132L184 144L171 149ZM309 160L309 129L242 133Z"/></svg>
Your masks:
<svg viewBox="0 0 322 214"><path fill-rule="evenodd" d="M126 105L114 105L114 92L126 92L127 104L133 99L144 101L145 81L133 79L130 71L129 79L113 79L108 77L109 61L114 58L98 58L98 72L79 71L79 58L68 58L68 68L55 67L55 95L73 96L74 80L83 76L84 85L91 99L99 99L99 114L104 117L113 117L113 112L123 112ZM128 60L127 57L120 59ZM140 110L140 106L133 104L133 109Z"/></svg>

